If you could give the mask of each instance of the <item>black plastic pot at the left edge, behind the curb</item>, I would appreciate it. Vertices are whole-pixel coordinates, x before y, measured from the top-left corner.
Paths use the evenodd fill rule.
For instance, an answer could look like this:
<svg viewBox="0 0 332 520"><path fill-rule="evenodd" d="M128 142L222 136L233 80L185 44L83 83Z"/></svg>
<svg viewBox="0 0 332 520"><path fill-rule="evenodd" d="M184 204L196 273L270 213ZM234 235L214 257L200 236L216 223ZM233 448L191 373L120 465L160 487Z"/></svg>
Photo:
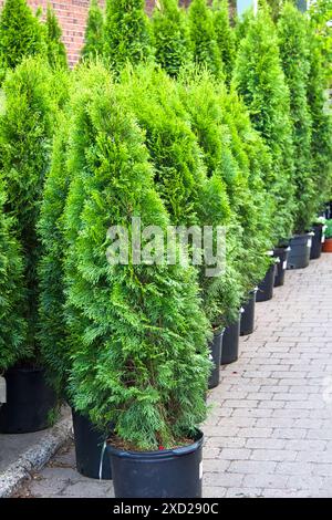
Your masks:
<svg viewBox="0 0 332 520"><path fill-rule="evenodd" d="M11 368L4 373L7 403L0 407L1 434L29 434L50 426L56 397L42 368Z"/></svg>

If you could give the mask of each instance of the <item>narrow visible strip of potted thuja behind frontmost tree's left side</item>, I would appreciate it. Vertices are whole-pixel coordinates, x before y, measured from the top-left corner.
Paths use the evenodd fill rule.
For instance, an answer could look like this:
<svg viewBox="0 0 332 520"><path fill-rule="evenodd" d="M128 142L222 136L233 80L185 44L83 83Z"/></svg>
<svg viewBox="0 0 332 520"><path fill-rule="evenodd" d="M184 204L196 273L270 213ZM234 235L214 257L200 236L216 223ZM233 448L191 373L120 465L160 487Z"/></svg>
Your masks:
<svg viewBox="0 0 332 520"><path fill-rule="evenodd" d="M103 79L101 71L101 80ZM79 79L72 89L77 89ZM38 222L42 254L39 262L39 339L48 379L60 402L71 404L68 374L71 367L71 349L65 324L63 211L70 177L66 168L68 128L70 106L59 115L58 131L52 147L51 168L45 178L40 219ZM105 436L95 428L87 415L72 407L77 471L90 478L111 479L111 466L103 455Z"/></svg>

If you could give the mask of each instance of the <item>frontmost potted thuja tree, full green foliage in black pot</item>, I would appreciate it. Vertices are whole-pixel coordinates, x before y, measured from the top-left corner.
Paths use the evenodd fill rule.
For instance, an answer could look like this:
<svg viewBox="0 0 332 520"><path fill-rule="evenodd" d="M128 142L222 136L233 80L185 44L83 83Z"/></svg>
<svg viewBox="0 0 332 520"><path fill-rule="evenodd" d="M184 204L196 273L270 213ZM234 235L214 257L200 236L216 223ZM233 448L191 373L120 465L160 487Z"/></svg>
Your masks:
<svg viewBox="0 0 332 520"><path fill-rule="evenodd" d="M163 262L168 216L115 87L90 85L74 106L64 214L71 398L104 431L113 424L116 497L199 497L210 362L196 272Z"/></svg>

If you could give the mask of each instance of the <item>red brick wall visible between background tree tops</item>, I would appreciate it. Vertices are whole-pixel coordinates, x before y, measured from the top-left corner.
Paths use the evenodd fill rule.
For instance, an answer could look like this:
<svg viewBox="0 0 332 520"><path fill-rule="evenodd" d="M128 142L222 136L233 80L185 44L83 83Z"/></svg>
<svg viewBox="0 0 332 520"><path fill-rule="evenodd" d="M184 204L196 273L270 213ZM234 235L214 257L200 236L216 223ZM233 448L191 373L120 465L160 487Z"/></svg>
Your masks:
<svg viewBox="0 0 332 520"><path fill-rule="evenodd" d="M100 4L103 6L105 0L100 0ZM0 7L4 3L0 0ZM38 7L46 11L49 0L28 0L29 6L34 10ZM86 23L86 17L89 11L90 0L58 0L50 1L53 7L60 25L62 28L62 39L68 49L69 62L71 65L76 63L80 56L80 49L84 42L84 30ZM147 11L152 10L155 0L147 0Z"/></svg>

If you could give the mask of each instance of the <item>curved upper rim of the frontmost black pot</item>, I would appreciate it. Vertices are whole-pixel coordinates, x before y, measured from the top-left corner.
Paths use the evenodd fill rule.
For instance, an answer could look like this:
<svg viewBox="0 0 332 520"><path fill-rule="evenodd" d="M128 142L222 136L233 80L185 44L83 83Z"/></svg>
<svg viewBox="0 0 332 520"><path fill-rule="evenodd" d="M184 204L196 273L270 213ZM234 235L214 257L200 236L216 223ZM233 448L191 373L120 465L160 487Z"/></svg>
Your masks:
<svg viewBox="0 0 332 520"><path fill-rule="evenodd" d="M107 451L111 455L114 455L116 457L122 457L122 458L131 458L131 459L144 459L144 458L156 458L158 460L169 458L169 457L183 457L185 455L189 455L194 451L197 451L204 443L204 433L197 428L197 435L196 438L193 439L193 444L188 446L181 446L179 448L174 448L174 449L162 449L159 451L132 451L132 450L125 450L125 449L120 449L116 448L115 446L112 446L112 444L107 443Z"/></svg>

